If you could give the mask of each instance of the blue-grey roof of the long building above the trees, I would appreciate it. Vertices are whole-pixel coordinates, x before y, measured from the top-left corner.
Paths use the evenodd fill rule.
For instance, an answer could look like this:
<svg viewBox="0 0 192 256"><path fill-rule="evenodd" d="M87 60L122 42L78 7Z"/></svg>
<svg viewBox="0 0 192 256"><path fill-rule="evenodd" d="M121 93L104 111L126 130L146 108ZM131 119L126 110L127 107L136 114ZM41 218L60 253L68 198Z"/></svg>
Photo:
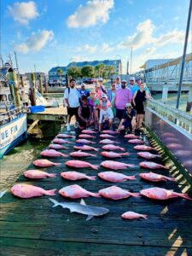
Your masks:
<svg viewBox="0 0 192 256"><path fill-rule="evenodd" d="M84 67L84 66L92 66L96 67L99 64L104 64L105 66L113 66L114 73L121 74L122 73L122 63L121 60L104 60L104 61L80 61L80 62L70 62L67 65L68 67Z"/></svg>

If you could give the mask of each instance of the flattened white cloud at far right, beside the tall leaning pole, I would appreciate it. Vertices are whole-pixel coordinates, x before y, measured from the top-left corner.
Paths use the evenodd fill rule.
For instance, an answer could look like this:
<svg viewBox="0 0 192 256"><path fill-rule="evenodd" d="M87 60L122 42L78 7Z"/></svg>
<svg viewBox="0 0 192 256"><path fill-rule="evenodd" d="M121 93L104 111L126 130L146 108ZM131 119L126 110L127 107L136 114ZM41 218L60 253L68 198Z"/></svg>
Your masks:
<svg viewBox="0 0 192 256"><path fill-rule="evenodd" d="M166 44L179 44L184 42L184 32L173 30L172 32L167 32L160 35L159 38L154 38L154 44L156 46L164 46Z"/></svg>

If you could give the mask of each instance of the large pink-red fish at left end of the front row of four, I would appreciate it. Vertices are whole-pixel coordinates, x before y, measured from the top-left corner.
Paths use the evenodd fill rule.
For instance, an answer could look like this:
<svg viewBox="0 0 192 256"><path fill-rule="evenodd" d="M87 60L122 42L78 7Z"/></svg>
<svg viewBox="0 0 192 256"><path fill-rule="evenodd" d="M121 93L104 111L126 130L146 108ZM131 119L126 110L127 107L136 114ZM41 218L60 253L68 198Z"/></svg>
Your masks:
<svg viewBox="0 0 192 256"><path fill-rule="evenodd" d="M56 189L45 190L28 184L16 184L10 190L13 195L20 198L31 198L41 195L55 195Z"/></svg>

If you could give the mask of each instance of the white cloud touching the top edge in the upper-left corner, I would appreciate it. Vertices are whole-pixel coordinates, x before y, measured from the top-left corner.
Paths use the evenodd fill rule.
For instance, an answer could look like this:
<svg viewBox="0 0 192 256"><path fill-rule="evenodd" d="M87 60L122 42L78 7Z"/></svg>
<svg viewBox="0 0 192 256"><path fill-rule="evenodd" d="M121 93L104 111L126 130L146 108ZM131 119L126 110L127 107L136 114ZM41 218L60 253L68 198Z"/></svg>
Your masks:
<svg viewBox="0 0 192 256"><path fill-rule="evenodd" d="M29 20L35 20L39 16L36 3L33 1L16 2L13 6L8 6L8 11L9 15L22 25L28 25Z"/></svg>

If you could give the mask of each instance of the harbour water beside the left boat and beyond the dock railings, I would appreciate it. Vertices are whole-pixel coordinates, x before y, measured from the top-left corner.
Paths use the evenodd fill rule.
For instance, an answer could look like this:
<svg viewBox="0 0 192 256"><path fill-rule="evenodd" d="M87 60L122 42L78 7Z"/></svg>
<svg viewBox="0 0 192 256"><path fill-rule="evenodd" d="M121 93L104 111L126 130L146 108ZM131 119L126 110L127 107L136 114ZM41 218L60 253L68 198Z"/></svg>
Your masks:
<svg viewBox="0 0 192 256"><path fill-rule="evenodd" d="M158 93L153 95L154 100L160 101L162 94ZM187 102L187 94L181 95L180 109L185 110ZM63 94L52 94L49 98L55 98L62 104ZM169 93L168 102L175 108L177 102L177 93ZM17 177L24 172L33 160L38 158L40 152L47 147L50 142L49 139L37 140L29 139L26 143L22 143L19 147L13 149L8 155L0 160L0 190L9 188Z"/></svg>

